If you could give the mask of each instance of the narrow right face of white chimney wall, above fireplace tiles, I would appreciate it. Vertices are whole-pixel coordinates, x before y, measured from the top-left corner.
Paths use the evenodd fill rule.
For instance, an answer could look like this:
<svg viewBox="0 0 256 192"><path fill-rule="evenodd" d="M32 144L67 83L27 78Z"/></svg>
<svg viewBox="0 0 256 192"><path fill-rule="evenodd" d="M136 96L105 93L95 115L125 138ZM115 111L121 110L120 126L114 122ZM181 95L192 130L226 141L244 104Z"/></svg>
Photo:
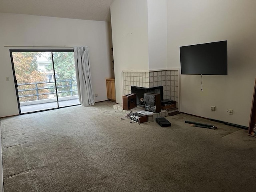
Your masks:
<svg viewBox="0 0 256 192"><path fill-rule="evenodd" d="M167 68L166 0L148 0L149 70Z"/></svg>

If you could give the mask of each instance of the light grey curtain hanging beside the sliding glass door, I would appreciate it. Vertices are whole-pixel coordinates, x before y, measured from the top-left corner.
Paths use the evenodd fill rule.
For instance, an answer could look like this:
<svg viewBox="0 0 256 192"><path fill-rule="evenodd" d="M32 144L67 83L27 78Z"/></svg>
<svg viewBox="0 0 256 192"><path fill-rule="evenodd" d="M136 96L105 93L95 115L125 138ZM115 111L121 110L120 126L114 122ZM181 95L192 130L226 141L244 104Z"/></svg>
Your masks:
<svg viewBox="0 0 256 192"><path fill-rule="evenodd" d="M82 106L94 105L95 98L92 91L92 78L90 72L89 48L74 47L76 66L76 80L79 101Z"/></svg>

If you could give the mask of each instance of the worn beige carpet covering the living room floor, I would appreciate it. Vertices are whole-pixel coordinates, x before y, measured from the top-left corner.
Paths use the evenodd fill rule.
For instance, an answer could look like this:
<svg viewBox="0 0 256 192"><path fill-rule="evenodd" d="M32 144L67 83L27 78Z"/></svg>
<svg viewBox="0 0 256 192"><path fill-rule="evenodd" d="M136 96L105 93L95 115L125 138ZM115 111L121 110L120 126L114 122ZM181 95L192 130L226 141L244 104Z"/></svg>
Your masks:
<svg viewBox="0 0 256 192"><path fill-rule="evenodd" d="M130 123L113 104L1 118L4 192L256 191L246 130L185 114Z"/></svg>

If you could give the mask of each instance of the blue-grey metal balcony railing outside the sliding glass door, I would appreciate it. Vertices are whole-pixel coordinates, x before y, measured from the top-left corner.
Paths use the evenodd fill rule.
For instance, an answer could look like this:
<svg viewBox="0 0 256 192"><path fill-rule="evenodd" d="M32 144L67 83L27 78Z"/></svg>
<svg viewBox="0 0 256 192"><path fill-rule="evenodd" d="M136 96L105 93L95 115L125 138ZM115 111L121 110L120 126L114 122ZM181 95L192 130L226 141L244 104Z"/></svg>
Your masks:
<svg viewBox="0 0 256 192"><path fill-rule="evenodd" d="M64 85L64 86L57 86L57 93L58 93L58 97L61 97L59 96L61 93L66 93L66 92L70 92L71 95L70 96L74 96L74 95L77 95L77 84L76 84L76 81L75 80L64 80L64 81L56 81L56 85L60 82L69 82L68 85ZM73 83L72 83L73 82ZM75 83L74 83L75 82ZM56 90L55 90L55 84L52 86L52 87L47 87L47 88L40 88L38 85L40 84L54 84L54 82L40 82L40 83L28 83L28 84L18 84L18 87L19 86L26 86L26 85L35 85L35 88L32 88L32 89L22 89L22 90L18 90L18 93L21 93L21 92L28 92L28 91L36 91L36 94L28 94L28 95L22 95L20 96L19 95L19 99L20 98L25 98L25 97L31 97L31 96L36 96L36 100L40 100L40 97L41 95L50 95L50 94L56 94ZM70 90L66 90L66 91L58 91L58 89L60 88L64 88L64 87L70 87ZM39 90L51 90L51 89L54 89L54 92L50 92L50 93L39 93L38 91Z"/></svg>

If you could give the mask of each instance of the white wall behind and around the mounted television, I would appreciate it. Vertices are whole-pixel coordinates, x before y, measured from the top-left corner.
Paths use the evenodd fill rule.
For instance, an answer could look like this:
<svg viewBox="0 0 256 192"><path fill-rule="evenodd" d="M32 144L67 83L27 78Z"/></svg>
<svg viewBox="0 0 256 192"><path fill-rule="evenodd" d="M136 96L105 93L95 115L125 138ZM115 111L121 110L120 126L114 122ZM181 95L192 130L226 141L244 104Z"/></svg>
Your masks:
<svg viewBox="0 0 256 192"><path fill-rule="evenodd" d="M228 76L203 76L201 91L199 75L181 75L181 112L249 125L256 77L255 8L251 0L168 0L168 68L180 68L180 46L228 40ZM226 109L233 109L233 115Z"/></svg>

